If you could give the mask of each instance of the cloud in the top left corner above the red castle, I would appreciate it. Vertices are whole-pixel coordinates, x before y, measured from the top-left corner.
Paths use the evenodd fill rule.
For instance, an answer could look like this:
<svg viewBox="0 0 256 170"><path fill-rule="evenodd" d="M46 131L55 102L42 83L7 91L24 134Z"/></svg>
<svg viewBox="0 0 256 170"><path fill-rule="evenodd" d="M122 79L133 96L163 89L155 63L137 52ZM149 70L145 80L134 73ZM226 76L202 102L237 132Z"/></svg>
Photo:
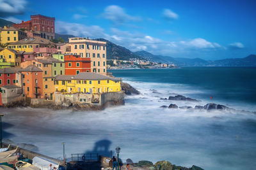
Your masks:
<svg viewBox="0 0 256 170"><path fill-rule="evenodd" d="M26 0L0 0L0 17L24 13Z"/></svg>

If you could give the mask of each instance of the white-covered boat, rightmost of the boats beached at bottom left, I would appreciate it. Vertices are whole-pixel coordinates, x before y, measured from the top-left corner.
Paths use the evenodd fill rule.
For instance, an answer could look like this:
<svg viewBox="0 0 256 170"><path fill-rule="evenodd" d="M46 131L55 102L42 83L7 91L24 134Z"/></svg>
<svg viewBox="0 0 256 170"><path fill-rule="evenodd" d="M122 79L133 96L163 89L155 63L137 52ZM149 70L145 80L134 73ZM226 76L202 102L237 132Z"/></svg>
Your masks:
<svg viewBox="0 0 256 170"><path fill-rule="evenodd" d="M32 164L36 167L39 167L40 170L49 170L50 165L51 165L51 169L54 169L54 167L58 169L59 167L59 164L57 162L54 162L53 160L46 159L43 157L34 157Z"/></svg>

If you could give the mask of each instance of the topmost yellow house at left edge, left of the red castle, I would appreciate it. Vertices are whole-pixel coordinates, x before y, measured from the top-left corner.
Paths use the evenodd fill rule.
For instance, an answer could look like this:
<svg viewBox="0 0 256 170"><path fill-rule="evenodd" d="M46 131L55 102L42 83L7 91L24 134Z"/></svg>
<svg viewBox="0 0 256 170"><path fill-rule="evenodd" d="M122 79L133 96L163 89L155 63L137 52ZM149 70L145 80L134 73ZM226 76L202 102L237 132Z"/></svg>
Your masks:
<svg viewBox="0 0 256 170"><path fill-rule="evenodd" d="M0 43L3 45L6 43L13 43L27 37L26 32L20 31L15 27L4 26L0 31Z"/></svg>

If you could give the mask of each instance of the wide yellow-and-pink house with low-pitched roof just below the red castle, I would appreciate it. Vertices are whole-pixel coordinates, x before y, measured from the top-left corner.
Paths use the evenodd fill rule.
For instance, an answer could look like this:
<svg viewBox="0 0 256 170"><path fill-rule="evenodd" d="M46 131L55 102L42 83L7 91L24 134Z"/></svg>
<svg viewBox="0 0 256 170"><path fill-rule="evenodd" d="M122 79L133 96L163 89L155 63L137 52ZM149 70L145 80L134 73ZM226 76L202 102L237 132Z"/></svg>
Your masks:
<svg viewBox="0 0 256 170"><path fill-rule="evenodd" d="M36 52L38 56L49 56L51 53L57 52L56 45L52 41L40 37L24 38L10 43L7 48L16 51Z"/></svg>

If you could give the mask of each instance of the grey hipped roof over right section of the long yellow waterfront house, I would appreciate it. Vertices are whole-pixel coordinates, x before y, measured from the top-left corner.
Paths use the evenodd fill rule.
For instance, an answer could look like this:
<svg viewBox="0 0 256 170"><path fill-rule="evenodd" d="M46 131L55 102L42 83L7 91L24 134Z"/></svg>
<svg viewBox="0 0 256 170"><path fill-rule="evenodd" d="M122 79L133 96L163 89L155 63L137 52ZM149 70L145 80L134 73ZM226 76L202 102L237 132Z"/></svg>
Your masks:
<svg viewBox="0 0 256 170"><path fill-rule="evenodd" d="M81 72L74 76L74 80L121 80L120 78L113 78L109 76L104 76L99 73Z"/></svg>

